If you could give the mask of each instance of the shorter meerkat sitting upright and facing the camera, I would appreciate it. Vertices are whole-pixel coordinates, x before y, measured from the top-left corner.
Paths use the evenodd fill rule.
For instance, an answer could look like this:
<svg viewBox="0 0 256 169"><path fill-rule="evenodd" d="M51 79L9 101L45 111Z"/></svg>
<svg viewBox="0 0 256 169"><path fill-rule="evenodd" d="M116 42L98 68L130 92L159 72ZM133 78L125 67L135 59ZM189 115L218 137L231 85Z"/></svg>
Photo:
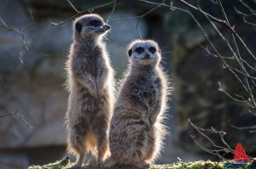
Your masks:
<svg viewBox="0 0 256 169"><path fill-rule="evenodd" d="M166 126L163 124L169 94L160 67L160 48L152 40L129 45L130 65L119 87L110 122L111 156L104 167L146 167L160 156Z"/></svg>

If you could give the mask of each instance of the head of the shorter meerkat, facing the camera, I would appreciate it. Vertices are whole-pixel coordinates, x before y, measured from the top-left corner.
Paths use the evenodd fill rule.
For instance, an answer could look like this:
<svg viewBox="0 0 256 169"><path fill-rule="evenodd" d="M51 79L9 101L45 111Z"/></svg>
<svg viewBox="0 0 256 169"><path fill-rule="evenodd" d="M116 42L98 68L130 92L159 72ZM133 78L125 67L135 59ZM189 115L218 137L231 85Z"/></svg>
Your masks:
<svg viewBox="0 0 256 169"><path fill-rule="evenodd" d="M135 40L131 42L128 48L128 55L131 58L131 65L156 66L160 63L160 48L152 40Z"/></svg>

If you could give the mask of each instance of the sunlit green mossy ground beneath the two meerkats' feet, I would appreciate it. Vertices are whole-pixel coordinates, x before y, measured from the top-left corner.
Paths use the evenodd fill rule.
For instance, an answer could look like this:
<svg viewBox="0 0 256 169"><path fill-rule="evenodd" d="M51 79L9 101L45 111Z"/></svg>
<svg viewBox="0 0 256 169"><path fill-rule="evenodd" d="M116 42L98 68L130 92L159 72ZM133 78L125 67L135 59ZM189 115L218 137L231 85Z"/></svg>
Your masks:
<svg viewBox="0 0 256 169"><path fill-rule="evenodd" d="M67 169L71 166L69 158L66 157L61 161L56 161L55 163L50 163L44 166L29 166L28 169ZM90 169L90 166L84 166L83 169ZM113 168L122 169L135 169L135 167L129 166L117 166ZM222 161L222 162L212 162L212 161L195 161L184 163L180 159L176 163L169 165L152 165L148 169L255 169L256 159L253 159L251 163L234 163L234 161Z"/></svg>

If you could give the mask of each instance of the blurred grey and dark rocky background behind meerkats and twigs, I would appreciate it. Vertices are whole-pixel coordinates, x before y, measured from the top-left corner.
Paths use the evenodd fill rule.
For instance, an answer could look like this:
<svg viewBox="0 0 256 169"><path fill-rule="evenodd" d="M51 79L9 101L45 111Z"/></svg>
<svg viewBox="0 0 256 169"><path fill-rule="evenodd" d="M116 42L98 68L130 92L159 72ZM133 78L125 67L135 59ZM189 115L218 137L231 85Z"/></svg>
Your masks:
<svg viewBox="0 0 256 169"><path fill-rule="evenodd" d="M183 161L219 161L218 155L207 152L207 149L217 149L212 142L224 148L230 146L230 149L241 143L247 155L255 156L256 115L253 106L246 103L248 91L230 70L224 69L222 59L209 54L212 53L211 45L195 20L172 5L195 14L219 54L232 57L227 43L203 14L179 3L180 0L166 0L166 7L159 8L156 4L136 0L119 0L115 8L113 2L106 0L70 2L79 11L109 3L84 14L96 13L104 20L109 19L112 29L106 42L117 80L127 65L125 48L129 42L140 38L138 30L143 38L159 43L163 56L161 65L170 76L174 91L166 113L170 135L156 163L172 163L177 157ZM197 1L187 2L196 7ZM200 3L208 14L224 20L218 2L204 0ZM223 1L222 5L230 25L235 26L247 47L256 54L256 27L245 23L248 20L255 23L255 11L247 8L256 9L255 1ZM65 61L73 42L72 23L67 21L53 26L50 23L67 20L74 14L77 13L67 0L2 0L0 3L0 115L19 110L19 115L24 115L25 121L32 125L32 128L28 127L16 115L0 118L2 169L44 165L67 156L64 115L68 93L63 83L66 81ZM248 16L247 20L244 20L245 16ZM226 27L216 25L228 40L232 39ZM236 48L231 40L230 44ZM252 65L249 72L255 77L255 59L250 57L241 42L237 43L237 48L242 59ZM230 59L228 63L236 69L234 60ZM240 79L244 80L242 76ZM239 95L238 98L242 97L244 101L237 102L219 91L218 82L230 96ZM253 82L249 82L252 86L249 92L255 93ZM211 129L200 131L212 142L188 119L197 127ZM219 154L233 158L232 153L222 151Z"/></svg>

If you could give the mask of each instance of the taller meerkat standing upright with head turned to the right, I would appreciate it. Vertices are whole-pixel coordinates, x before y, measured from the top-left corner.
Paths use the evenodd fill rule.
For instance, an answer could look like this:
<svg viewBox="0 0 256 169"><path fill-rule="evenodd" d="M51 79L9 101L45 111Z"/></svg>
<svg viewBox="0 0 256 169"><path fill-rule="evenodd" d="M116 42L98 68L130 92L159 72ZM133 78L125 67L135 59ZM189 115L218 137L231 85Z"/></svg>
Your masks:
<svg viewBox="0 0 256 169"><path fill-rule="evenodd" d="M90 150L97 167L108 153L108 129L113 111L113 69L103 35L110 30L98 14L73 21L73 44L67 59L69 91L67 150L76 155L73 168L81 167Z"/></svg>

